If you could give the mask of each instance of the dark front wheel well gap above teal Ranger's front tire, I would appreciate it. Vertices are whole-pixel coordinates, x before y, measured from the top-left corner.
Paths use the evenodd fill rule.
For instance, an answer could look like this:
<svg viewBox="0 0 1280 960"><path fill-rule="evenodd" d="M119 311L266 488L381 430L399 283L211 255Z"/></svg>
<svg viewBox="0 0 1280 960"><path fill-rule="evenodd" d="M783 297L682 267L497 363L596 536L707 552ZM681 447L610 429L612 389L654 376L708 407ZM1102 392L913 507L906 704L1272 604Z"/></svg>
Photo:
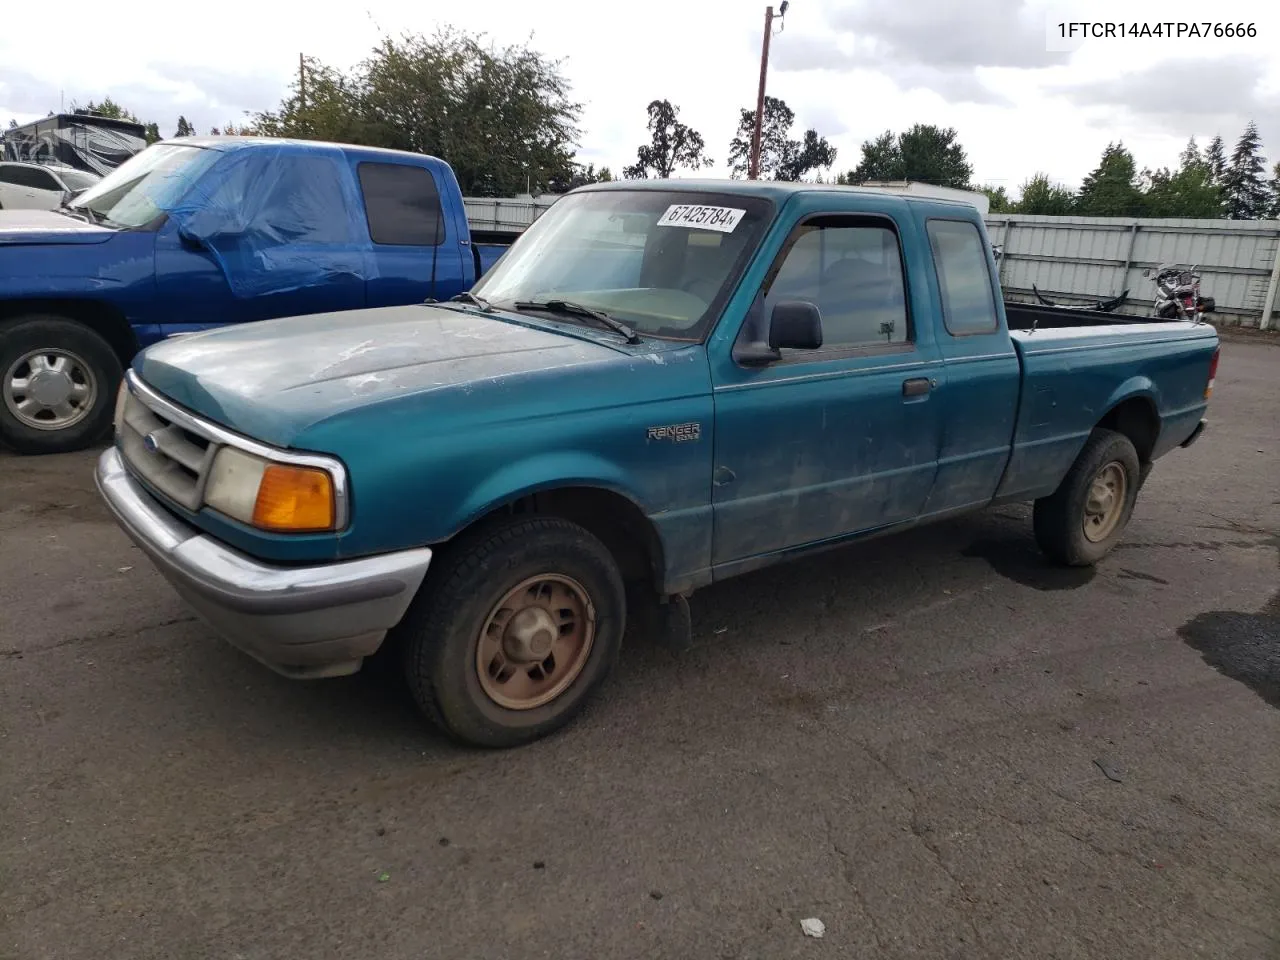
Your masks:
<svg viewBox="0 0 1280 960"><path fill-rule="evenodd" d="M626 497L598 486L540 490L490 511L472 526L527 515L561 517L585 527L613 554L623 580L643 580L662 589L662 540L644 512Z"/></svg>

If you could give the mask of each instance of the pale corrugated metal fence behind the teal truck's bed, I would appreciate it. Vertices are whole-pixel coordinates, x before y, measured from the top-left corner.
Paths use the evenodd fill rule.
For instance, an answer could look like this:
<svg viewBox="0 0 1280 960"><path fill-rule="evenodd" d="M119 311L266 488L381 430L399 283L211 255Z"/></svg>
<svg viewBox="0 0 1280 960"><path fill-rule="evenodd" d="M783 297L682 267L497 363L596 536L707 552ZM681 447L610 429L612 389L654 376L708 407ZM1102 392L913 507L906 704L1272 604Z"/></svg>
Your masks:
<svg viewBox="0 0 1280 960"><path fill-rule="evenodd" d="M1129 291L1125 314L1151 310L1155 284L1142 275L1161 264L1198 265L1201 291L1220 323L1276 326L1280 310L1280 221L1126 220L1097 216L989 214L991 242L1002 246L1000 282L1010 300L1110 298Z"/></svg>

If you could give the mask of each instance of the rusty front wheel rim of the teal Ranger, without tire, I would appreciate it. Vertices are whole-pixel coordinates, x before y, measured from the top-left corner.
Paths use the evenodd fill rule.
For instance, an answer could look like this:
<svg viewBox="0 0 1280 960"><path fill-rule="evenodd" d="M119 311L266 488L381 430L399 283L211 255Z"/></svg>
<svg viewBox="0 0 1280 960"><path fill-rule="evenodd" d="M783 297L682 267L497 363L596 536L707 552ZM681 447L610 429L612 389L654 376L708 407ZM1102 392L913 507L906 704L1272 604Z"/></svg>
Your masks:
<svg viewBox="0 0 1280 960"><path fill-rule="evenodd" d="M540 573L508 590L476 639L476 676L508 710L559 696L582 672L595 641L595 607L580 582Z"/></svg>

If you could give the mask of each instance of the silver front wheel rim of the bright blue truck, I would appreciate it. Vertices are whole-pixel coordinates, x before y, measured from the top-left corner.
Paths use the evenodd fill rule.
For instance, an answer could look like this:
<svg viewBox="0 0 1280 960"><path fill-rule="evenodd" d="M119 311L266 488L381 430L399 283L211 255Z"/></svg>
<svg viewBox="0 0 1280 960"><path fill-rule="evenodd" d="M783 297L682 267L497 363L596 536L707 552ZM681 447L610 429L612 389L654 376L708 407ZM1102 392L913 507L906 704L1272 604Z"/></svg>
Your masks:
<svg viewBox="0 0 1280 960"><path fill-rule="evenodd" d="M93 408L97 378L90 365L67 349L33 349L13 362L0 381L4 403L20 424L36 430L65 430Z"/></svg>

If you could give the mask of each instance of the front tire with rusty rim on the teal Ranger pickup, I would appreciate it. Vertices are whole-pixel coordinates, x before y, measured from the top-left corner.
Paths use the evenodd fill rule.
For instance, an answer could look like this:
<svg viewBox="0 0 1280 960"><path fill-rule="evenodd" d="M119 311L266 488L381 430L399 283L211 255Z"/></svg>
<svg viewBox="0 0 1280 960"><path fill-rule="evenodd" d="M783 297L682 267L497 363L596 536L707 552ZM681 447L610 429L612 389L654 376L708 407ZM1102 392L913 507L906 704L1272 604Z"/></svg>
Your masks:
<svg viewBox="0 0 1280 960"><path fill-rule="evenodd" d="M404 621L404 675L456 740L527 744L559 730L617 662L626 595L595 536L557 517L486 526L442 550Z"/></svg>

